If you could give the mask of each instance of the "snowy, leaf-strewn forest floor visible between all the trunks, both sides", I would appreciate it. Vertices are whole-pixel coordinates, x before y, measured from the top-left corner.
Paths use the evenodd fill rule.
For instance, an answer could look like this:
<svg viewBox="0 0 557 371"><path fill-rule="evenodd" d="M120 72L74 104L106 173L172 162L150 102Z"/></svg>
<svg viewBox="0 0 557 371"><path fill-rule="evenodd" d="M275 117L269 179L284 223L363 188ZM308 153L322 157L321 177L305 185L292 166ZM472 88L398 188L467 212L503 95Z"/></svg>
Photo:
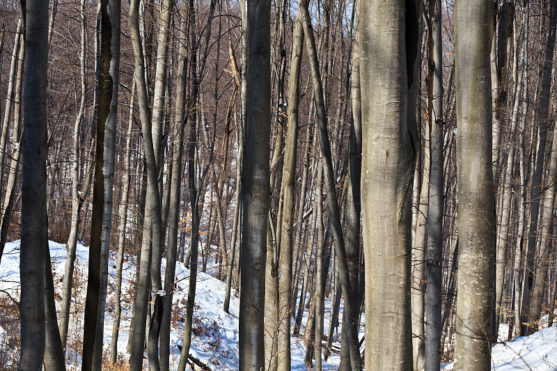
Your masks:
<svg viewBox="0 0 557 371"><path fill-rule="evenodd" d="M62 278L65 264L65 245L50 242L54 284L56 288L56 304L61 305L59 292L62 290ZM113 292L116 278L116 255L109 261L109 287L107 310L104 322L104 345L106 347L106 370L127 370L129 354L126 352L127 338L130 330L133 291L132 282L135 278L135 258L127 256L123 269L122 306L123 315L118 337L118 364L108 365L109 344L112 336L114 298ZM166 260L163 260L163 272ZM200 265L201 266L201 265ZM77 260L74 269L74 289L72 291L72 317L68 334L66 365L68 371L81 369L81 347L84 308L86 297L86 276L88 270L88 248L82 244L77 246ZM194 310L194 331L190 354L198 358L212 370L238 369L238 315L240 300L230 298L230 313L223 310L225 285L217 278L217 267L207 266L207 273L198 272L196 286L196 306ZM180 358L182 345L183 321L186 310L189 270L180 262L176 267L175 292L173 295L173 315L171 324L171 369L175 370ZM19 320L17 306L19 299L19 241L6 244L0 266L0 369L15 369L15 355L19 345ZM330 300L330 299L326 299ZM342 305L342 304L341 304ZM329 308L325 313L325 332L329 327ZM304 317L307 315L307 310ZM362 320L363 322L363 320ZM306 318L302 321L301 333L304 333ZM546 328L544 328L544 326ZM499 336L506 338L508 326L502 325ZM360 337L363 336L363 328ZM301 337L292 336L292 370L310 370L304 361L305 347ZM333 343L334 348L340 347L339 342ZM333 353L323 370L336 370L340 356ZM146 362L145 362L146 365ZM444 364L441 370L453 370L453 364ZM196 367L196 370L198 368ZM540 331L532 336L524 336L510 342L499 342L492 349L492 370L557 370L557 326L547 328L542 321Z"/></svg>

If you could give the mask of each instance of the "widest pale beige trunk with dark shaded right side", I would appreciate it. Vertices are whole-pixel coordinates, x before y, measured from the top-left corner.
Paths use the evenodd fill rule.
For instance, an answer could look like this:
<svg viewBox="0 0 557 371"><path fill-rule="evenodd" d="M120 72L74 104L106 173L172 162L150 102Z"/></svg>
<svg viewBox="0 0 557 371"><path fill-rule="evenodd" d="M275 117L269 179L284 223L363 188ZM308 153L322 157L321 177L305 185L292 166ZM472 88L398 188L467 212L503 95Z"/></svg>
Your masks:
<svg viewBox="0 0 557 371"><path fill-rule="evenodd" d="M366 370L411 370L411 194L418 135L415 118L409 124L408 104L414 103L408 99L420 13L414 1L368 1L359 9Z"/></svg>

